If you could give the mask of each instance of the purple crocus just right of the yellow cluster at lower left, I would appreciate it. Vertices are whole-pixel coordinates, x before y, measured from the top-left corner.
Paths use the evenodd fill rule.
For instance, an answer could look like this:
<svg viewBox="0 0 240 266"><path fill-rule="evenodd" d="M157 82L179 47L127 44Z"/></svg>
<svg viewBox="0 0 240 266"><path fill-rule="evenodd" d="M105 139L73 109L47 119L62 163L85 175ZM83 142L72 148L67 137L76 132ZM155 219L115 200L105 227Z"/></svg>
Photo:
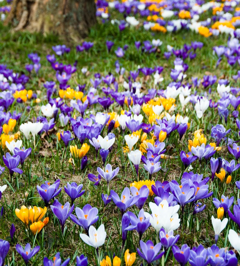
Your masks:
<svg viewBox="0 0 240 266"><path fill-rule="evenodd" d="M73 212L74 204L70 208L70 203L66 202L65 205L62 205L58 200L53 202L53 205L50 206L54 215L58 218L61 227L62 233L64 230L64 224L69 217L69 215Z"/></svg>

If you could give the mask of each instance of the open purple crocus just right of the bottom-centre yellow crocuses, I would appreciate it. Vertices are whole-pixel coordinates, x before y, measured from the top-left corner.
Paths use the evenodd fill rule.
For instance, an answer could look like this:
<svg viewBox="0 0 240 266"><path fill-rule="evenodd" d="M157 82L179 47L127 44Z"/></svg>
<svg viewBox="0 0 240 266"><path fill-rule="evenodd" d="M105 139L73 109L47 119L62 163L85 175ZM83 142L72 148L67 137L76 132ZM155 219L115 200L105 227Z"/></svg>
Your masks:
<svg viewBox="0 0 240 266"><path fill-rule="evenodd" d="M152 262L154 262L157 259L160 259L164 252L160 252L161 250L161 243L158 243L154 246L153 242L151 240L148 240L146 243L144 243L142 240L140 241L140 249L137 248L138 255L146 260L148 265L150 265Z"/></svg>

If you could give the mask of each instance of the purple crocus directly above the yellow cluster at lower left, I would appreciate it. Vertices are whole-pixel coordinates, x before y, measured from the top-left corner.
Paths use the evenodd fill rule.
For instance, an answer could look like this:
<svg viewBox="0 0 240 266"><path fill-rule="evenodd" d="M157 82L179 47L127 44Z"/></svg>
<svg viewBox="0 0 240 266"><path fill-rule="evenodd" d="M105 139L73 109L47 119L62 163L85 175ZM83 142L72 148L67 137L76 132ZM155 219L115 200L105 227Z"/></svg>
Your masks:
<svg viewBox="0 0 240 266"><path fill-rule="evenodd" d="M50 200L55 198L61 192L61 188L58 189L59 185L60 179L56 180L52 185L50 185L50 182L45 181L45 184L37 186L37 192L44 200L45 206L48 206Z"/></svg>

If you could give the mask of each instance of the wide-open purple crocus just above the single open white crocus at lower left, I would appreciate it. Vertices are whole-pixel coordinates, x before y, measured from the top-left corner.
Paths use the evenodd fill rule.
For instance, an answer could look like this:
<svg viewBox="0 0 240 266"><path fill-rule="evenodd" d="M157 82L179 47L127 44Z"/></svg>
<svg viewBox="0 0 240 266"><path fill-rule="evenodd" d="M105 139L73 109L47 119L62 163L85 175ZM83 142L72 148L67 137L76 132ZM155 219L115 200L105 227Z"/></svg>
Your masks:
<svg viewBox="0 0 240 266"><path fill-rule="evenodd" d="M88 235L89 227L98 220L98 209L96 207L92 207L90 204L86 204L82 209L76 207L75 213L77 217L73 214L70 214L71 220L84 228Z"/></svg>

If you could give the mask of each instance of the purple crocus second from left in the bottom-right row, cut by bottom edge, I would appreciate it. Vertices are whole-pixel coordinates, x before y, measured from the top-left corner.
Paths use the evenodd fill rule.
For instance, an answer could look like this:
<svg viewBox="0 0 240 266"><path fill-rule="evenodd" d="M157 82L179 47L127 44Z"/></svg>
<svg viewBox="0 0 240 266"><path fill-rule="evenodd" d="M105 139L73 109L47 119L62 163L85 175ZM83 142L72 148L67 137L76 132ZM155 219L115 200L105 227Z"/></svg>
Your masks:
<svg viewBox="0 0 240 266"><path fill-rule="evenodd" d="M207 249L205 249L201 244L198 247L193 247L190 250L189 263L192 266L207 266L210 258L207 258Z"/></svg>

